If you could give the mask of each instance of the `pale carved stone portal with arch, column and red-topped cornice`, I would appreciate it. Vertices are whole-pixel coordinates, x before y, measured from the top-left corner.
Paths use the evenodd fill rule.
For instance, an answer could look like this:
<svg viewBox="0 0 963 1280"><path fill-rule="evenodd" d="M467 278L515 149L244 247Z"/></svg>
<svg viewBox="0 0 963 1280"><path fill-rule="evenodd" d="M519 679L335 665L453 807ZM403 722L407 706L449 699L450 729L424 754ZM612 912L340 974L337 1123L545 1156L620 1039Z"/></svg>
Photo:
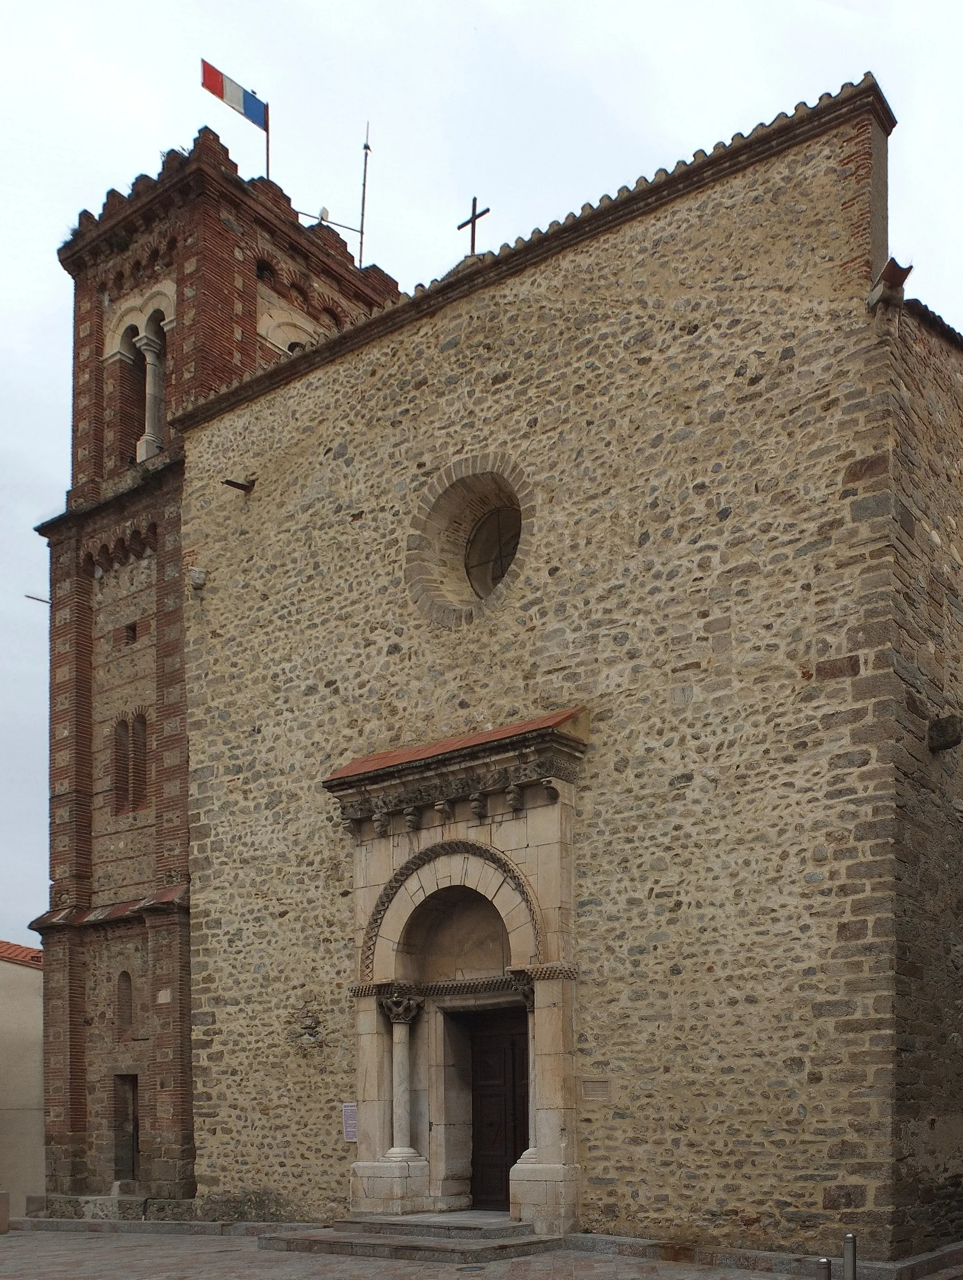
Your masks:
<svg viewBox="0 0 963 1280"><path fill-rule="evenodd" d="M325 782L355 837L355 1212L470 1206L458 1015L514 1006L529 1018L530 1134L506 1207L537 1234L578 1225L571 844L587 742L576 709Z"/></svg>

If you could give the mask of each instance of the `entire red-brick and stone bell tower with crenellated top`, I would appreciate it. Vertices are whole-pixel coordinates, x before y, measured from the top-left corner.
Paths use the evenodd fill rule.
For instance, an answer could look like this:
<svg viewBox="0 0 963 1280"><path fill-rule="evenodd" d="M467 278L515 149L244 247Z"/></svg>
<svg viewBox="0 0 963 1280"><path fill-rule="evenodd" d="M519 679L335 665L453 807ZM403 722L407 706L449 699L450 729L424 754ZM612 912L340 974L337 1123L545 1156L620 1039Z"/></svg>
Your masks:
<svg viewBox="0 0 963 1280"><path fill-rule="evenodd" d="M177 415L397 297L201 129L60 248L73 472L51 553L47 1212L195 1193ZM122 1206L120 1201L125 1203ZM137 1202L141 1202L140 1204ZM182 1208L177 1212L183 1212Z"/></svg>

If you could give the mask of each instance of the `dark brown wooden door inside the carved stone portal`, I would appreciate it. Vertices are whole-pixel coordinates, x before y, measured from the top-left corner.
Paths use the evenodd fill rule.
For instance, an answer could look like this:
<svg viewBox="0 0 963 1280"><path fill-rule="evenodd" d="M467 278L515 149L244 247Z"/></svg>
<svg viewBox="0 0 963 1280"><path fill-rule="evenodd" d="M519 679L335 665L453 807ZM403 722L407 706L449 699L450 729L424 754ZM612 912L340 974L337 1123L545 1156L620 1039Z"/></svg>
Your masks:
<svg viewBox="0 0 963 1280"><path fill-rule="evenodd" d="M471 1027L471 1206L508 1208L508 1170L529 1144L524 1009L475 1014Z"/></svg>

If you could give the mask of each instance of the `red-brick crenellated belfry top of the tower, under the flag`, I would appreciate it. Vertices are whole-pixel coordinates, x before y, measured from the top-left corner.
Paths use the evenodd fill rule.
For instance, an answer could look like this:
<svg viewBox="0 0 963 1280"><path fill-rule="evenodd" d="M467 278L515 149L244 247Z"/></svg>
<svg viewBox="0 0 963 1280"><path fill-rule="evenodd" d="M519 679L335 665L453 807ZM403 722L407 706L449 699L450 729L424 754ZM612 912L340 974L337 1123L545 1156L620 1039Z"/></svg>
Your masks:
<svg viewBox="0 0 963 1280"><path fill-rule="evenodd" d="M174 443L168 419L398 296L277 183L239 178L207 128L83 210L59 256L76 287L72 507Z"/></svg>

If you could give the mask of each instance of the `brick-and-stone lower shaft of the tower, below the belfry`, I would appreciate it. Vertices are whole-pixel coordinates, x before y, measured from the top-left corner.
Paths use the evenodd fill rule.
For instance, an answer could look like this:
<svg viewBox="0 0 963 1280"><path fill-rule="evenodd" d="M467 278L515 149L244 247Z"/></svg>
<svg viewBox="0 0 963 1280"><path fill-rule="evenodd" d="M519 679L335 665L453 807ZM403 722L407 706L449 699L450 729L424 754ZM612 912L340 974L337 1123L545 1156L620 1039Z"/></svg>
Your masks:
<svg viewBox="0 0 963 1280"><path fill-rule="evenodd" d="M193 1187L188 957L163 913L124 910L172 886L186 892L179 498L181 468L161 458L106 509L51 530L54 883L51 910L35 922L46 960L51 1197L110 1193L115 1075L138 1078L143 1194L179 1198ZM118 804L114 727L137 716L143 790ZM181 929L186 937L186 919ZM128 1036L118 1024L122 972L133 980Z"/></svg>

